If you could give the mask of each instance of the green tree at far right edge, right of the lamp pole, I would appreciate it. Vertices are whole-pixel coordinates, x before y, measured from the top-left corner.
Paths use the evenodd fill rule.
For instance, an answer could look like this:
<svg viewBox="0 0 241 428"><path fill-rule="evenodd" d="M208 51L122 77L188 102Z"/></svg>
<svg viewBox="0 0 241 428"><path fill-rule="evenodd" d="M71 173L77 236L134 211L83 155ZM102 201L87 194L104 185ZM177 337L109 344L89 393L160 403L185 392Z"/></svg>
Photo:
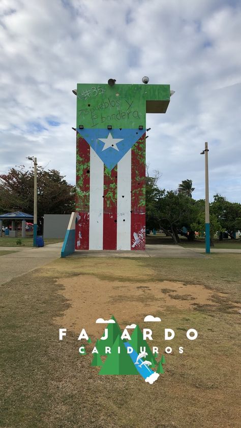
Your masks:
<svg viewBox="0 0 241 428"><path fill-rule="evenodd" d="M224 196L215 194L214 202L210 204L210 212L217 216L222 229L228 232L231 239L234 239L235 232L240 228L237 219L241 217L241 204L229 202Z"/></svg>

